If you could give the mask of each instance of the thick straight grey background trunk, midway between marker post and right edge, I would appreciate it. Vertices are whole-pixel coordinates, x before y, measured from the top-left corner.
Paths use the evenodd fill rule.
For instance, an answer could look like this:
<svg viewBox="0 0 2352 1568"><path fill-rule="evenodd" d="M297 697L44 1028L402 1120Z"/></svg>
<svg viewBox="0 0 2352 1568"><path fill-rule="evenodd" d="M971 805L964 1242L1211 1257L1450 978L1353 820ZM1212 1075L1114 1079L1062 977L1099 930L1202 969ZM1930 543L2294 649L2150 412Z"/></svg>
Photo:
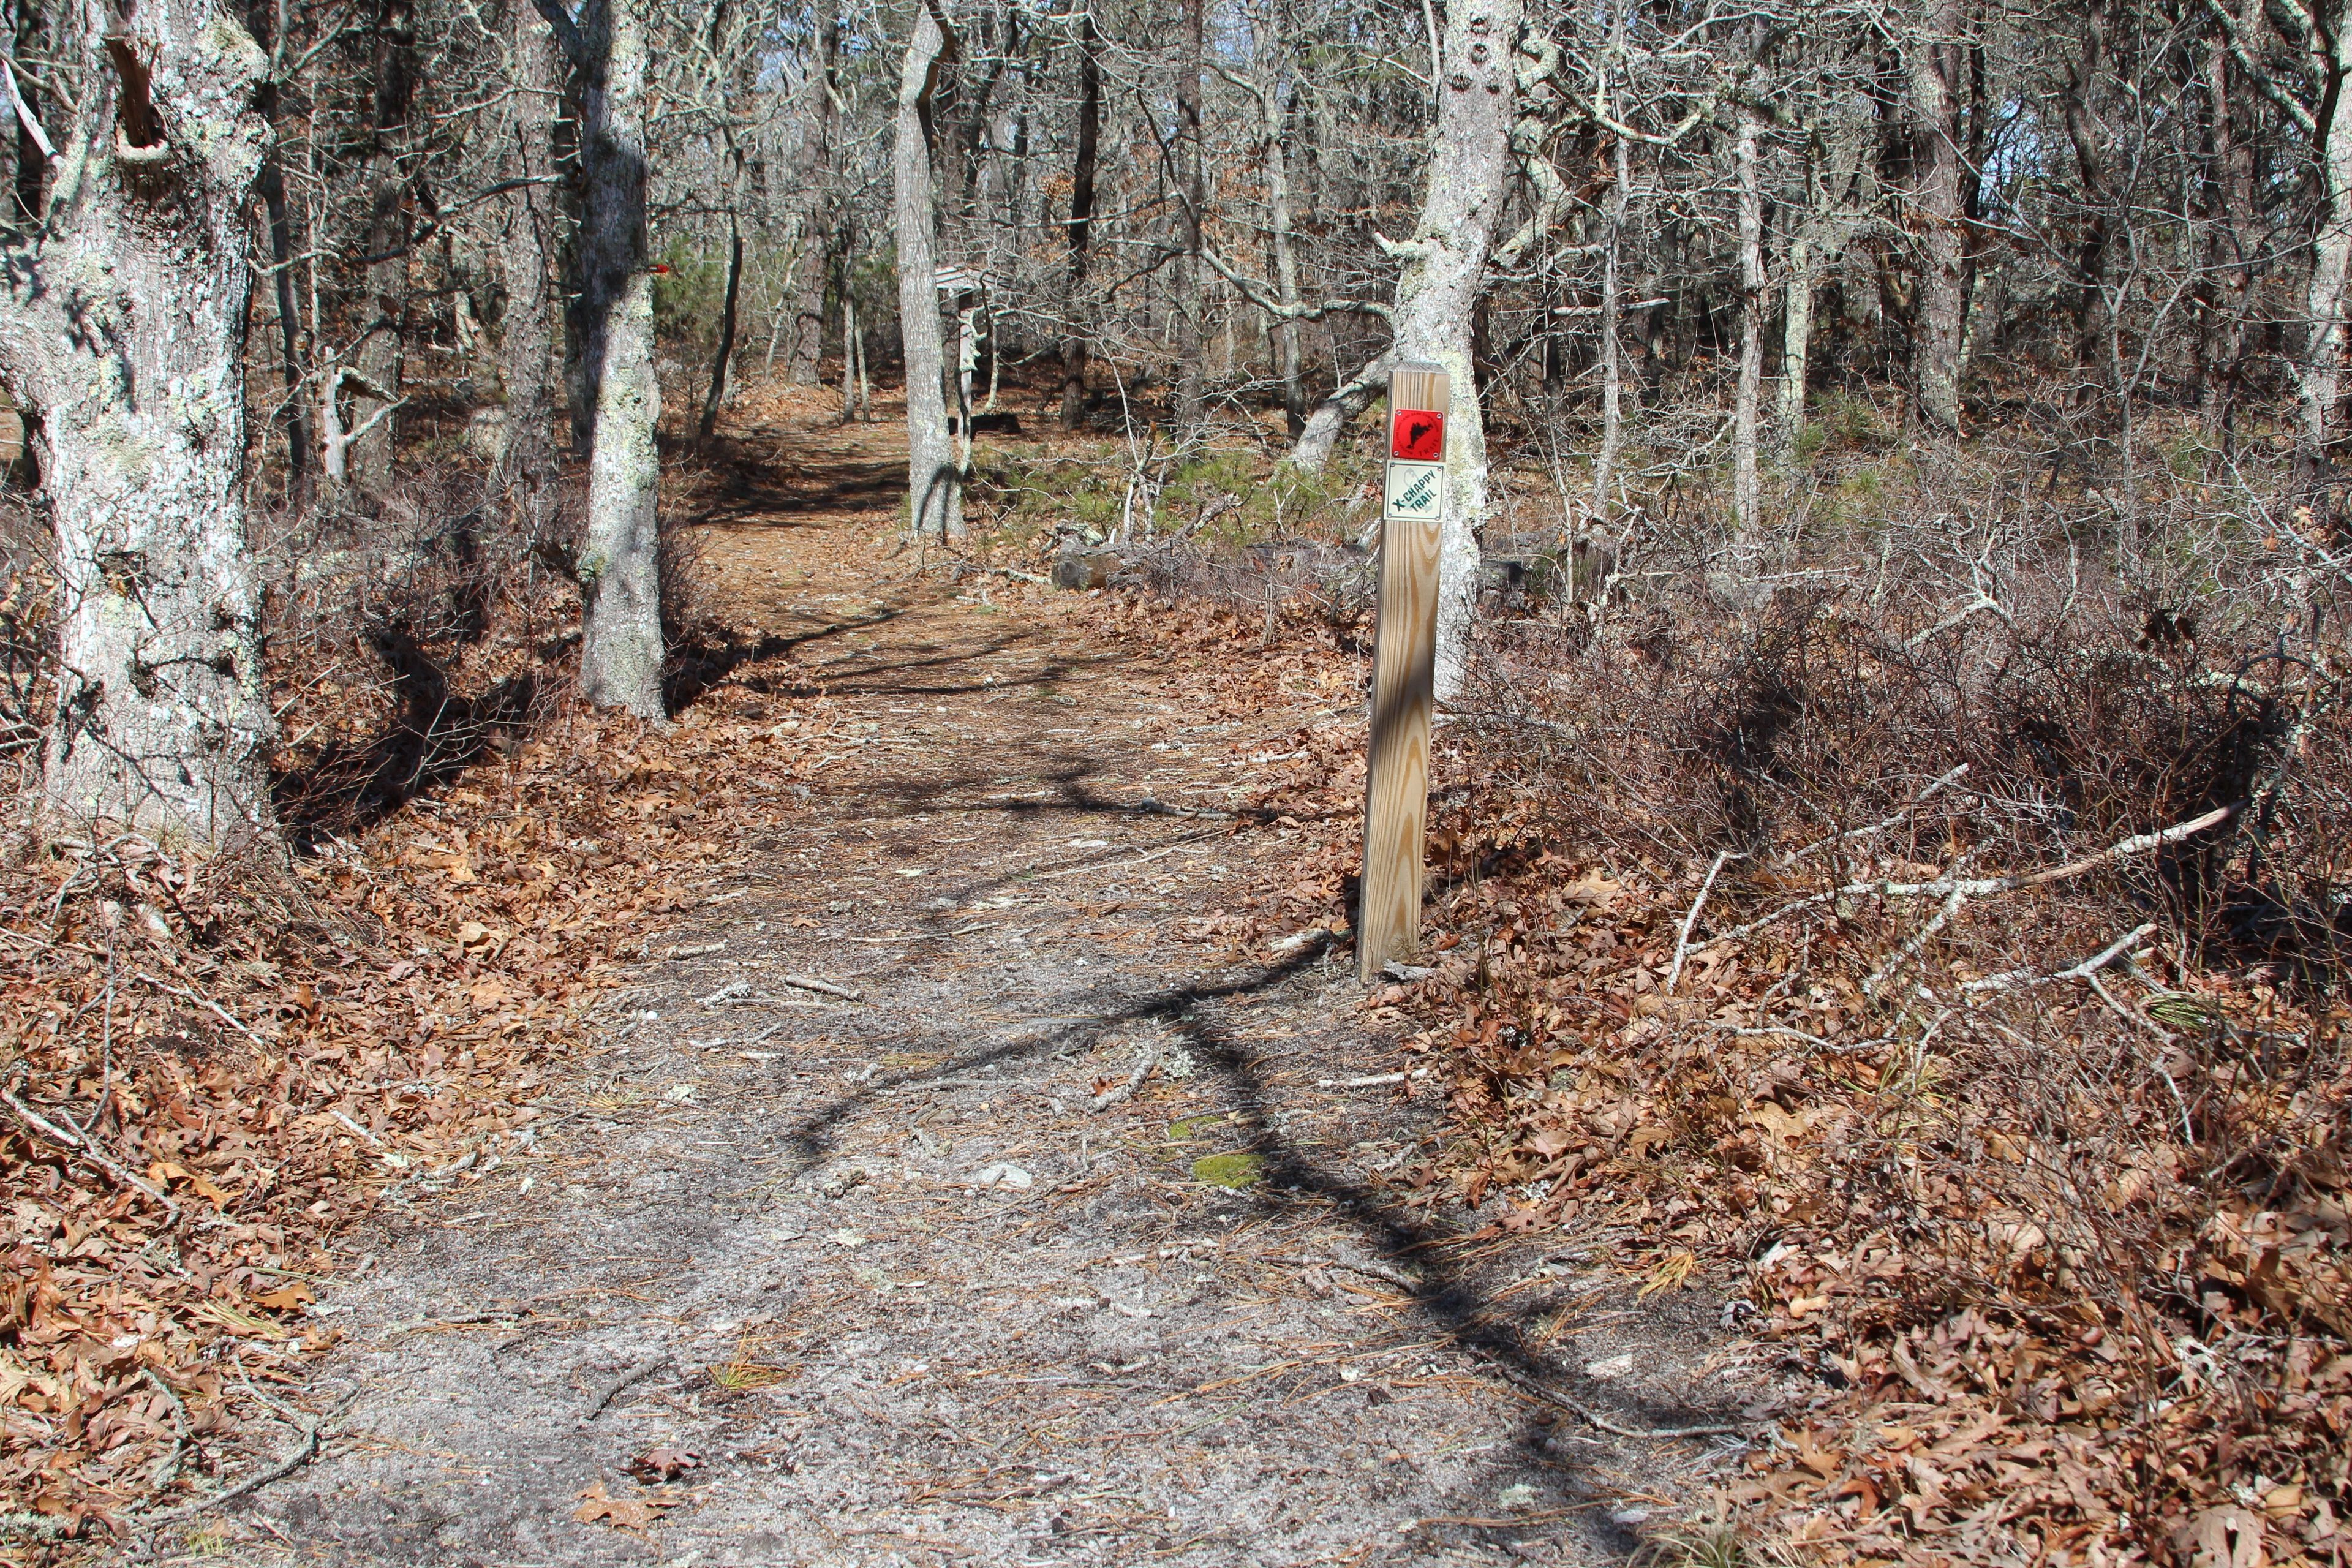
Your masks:
<svg viewBox="0 0 2352 1568"><path fill-rule="evenodd" d="M1912 209L1919 214L1919 331L1912 364L1919 414L1943 435L1959 435L1962 252L1966 249L1959 188L1959 85L1966 61L1959 0L1933 0L1905 42L1912 129L1919 172Z"/></svg>

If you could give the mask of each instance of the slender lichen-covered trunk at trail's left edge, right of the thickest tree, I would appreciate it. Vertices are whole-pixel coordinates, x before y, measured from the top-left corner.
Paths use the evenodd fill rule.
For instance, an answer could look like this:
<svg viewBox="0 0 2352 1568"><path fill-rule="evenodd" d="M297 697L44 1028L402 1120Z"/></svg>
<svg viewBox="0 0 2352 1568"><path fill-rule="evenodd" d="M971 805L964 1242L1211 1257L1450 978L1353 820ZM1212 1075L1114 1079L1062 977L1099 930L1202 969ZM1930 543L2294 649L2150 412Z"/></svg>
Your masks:
<svg viewBox="0 0 2352 1568"><path fill-rule="evenodd" d="M647 270L647 101L642 0L593 0L581 162L588 221L588 527L581 548L581 691L597 708L663 719L661 703L661 381L654 376L654 277Z"/></svg>

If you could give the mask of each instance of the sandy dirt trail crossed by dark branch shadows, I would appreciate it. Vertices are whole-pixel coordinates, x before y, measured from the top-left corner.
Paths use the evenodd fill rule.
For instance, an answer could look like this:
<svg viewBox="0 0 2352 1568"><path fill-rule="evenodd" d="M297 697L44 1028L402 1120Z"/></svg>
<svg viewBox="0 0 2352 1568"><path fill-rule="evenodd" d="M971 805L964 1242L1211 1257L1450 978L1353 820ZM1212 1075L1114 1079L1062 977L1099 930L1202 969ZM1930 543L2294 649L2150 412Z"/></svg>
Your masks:
<svg viewBox="0 0 2352 1568"><path fill-rule="evenodd" d="M898 440L746 435L771 465L706 559L856 743L659 938L682 957L614 999L536 1159L388 1227L329 1291L348 1342L306 1394L327 1448L214 1552L1623 1554L1736 1450L1557 1415L1496 1359L1609 1425L1736 1420L1717 1302L1637 1302L1524 1244L1430 1246L1376 1178L1437 1095L1350 1081L1397 1063L1357 1025L1348 954L1200 969L1174 940L1284 853L1279 827L1209 811L1298 715L1204 724L1181 672L1051 607L910 581L887 557ZM1197 1180L1218 1154L1263 1180ZM654 1448L701 1462L642 1486L623 1467ZM623 1523L668 1507L576 1521L597 1486Z"/></svg>

